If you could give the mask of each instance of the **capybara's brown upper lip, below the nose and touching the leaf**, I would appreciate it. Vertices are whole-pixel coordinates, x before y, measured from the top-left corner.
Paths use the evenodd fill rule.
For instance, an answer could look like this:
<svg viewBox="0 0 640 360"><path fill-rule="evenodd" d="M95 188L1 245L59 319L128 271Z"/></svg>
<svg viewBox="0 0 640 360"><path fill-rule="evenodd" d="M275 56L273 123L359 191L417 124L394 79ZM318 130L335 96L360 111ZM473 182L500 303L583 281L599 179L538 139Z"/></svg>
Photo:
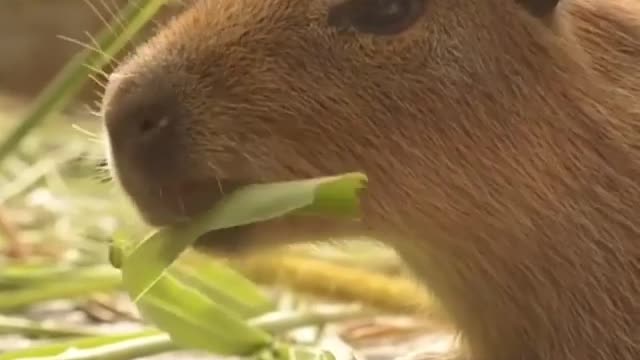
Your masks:
<svg viewBox="0 0 640 360"><path fill-rule="evenodd" d="M170 226L201 215L226 195L248 184L223 179L199 180L174 186L150 184L141 189L127 189L127 192L145 222L152 226Z"/></svg>

